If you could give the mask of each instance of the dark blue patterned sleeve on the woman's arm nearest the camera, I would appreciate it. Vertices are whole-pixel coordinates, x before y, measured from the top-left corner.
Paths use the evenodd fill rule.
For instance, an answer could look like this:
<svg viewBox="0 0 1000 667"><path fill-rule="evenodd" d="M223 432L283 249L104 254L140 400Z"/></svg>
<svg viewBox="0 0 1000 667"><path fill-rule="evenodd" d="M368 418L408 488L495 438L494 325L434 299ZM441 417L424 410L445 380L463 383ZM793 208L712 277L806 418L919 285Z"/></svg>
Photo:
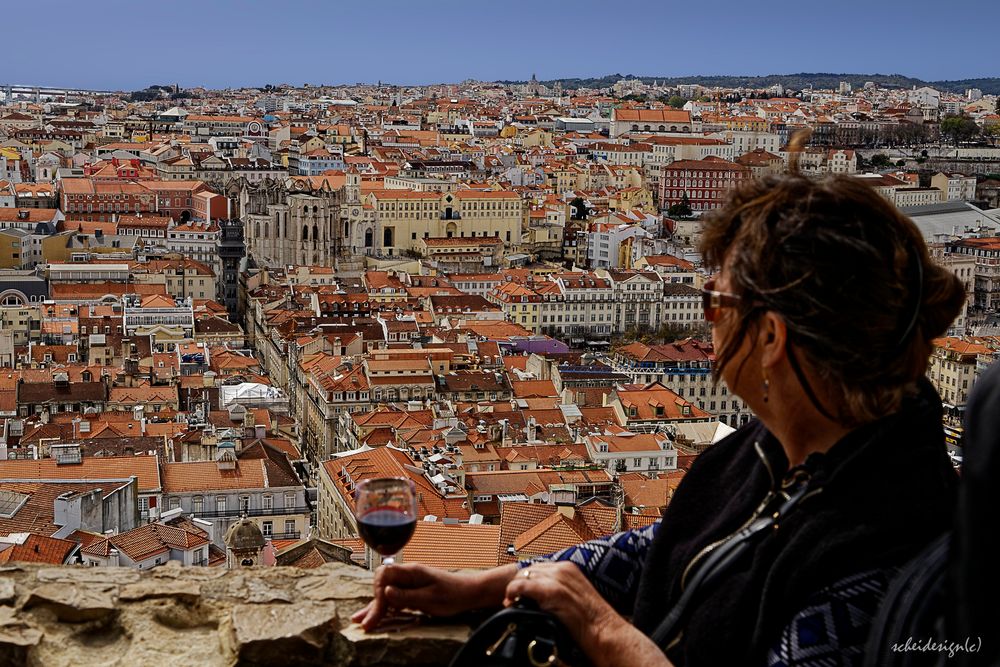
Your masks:
<svg viewBox="0 0 1000 667"><path fill-rule="evenodd" d="M869 570L812 595L767 654L767 667L854 667L894 571Z"/></svg>

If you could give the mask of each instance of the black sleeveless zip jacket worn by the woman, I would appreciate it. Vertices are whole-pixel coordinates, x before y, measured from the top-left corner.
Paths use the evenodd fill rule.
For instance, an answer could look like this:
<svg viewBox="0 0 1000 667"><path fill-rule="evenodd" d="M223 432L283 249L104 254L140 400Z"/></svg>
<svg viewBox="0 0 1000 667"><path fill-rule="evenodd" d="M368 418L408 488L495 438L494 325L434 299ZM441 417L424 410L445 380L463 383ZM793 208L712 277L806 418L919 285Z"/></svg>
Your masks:
<svg viewBox="0 0 1000 667"><path fill-rule="evenodd" d="M899 413L848 434L803 467L810 493L753 553L696 598L678 667L760 664L781 629L819 589L902 564L947 529L957 475L944 445L941 401L926 381ZM743 525L788 471L780 443L751 422L699 456L663 515L636 601L651 634L680 595L685 567Z"/></svg>

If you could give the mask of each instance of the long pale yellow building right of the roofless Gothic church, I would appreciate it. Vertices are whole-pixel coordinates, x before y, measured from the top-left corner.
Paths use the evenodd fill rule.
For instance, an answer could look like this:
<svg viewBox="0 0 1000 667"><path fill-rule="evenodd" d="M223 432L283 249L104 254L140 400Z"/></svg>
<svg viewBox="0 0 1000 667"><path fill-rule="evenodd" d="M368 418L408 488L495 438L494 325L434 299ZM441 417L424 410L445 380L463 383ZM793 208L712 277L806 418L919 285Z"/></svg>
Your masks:
<svg viewBox="0 0 1000 667"><path fill-rule="evenodd" d="M493 236L508 250L520 242L523 204L515 192L376 190L366 204L375 212L375 238L365 245L385 254L419 251L425 238Z"/></svg>

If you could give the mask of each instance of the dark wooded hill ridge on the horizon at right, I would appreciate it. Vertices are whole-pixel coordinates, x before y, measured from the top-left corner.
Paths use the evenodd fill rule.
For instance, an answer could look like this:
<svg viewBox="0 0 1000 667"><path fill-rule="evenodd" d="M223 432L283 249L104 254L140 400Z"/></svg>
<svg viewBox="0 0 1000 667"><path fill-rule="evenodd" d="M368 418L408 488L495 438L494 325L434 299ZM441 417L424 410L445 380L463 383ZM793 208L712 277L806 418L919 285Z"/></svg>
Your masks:
<svg viewBox="0 0 1000 667"><path fill-rule="evenodd" d="M551 79L540 81L546 86L562 84L567 90L576 88L609 88L619 79L639 79L643 83L657 81L667 86L681 84L700 84L702 86L720 88L770 88L781 84L786 89L802 90L813 88L836 88L841 81L847 81L854 88L860 88L867 81L873 81L883 88L912 88L913 86L931 86L938 90L953 93L964 93L969 88L979 88L986 95L1000 95L1000 77L985 79L961 79L957 81L923 81L902 74L833 74L815 72L799 74L768 74L767 76L635 76L633 74L609 74L589 79ZM498 81L504 84L523 84L527 81Z"/></svg>

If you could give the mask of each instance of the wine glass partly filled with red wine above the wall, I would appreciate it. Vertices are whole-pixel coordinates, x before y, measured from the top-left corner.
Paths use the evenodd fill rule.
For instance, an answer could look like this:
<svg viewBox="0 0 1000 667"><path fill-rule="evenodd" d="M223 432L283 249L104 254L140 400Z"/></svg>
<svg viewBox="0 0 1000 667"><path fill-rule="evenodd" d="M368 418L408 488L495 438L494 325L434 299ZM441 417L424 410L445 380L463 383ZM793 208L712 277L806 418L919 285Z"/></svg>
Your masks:
<svg viewBox="0 0 1000 667"><path fill-rule="evenodd" d="M417 527L416 485L405 477L363 480L354 491L354 515L361 539L392 565Z"/></svg>

